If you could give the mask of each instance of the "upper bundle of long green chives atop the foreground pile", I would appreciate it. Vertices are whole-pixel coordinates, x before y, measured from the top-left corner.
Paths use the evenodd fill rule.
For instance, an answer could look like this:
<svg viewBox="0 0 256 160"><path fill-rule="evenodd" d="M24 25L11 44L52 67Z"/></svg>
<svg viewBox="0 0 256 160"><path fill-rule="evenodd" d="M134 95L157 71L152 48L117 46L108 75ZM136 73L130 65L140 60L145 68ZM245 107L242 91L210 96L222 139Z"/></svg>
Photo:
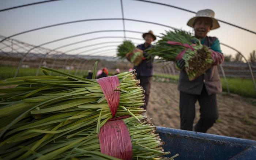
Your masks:
<svg viewBox="0 0 256 160"><path fill-rule="evenodd" d="M73 144L73 136L83 134L87 129L99 133L100 127L112 118L96 80L86 80L49 68L42 69L46 76L0 81L1 86L18 85L0 89L0 93L5 93L0 96L0 157L3 159L40 157L46 153L38 153L40 148L47 145L48 151L47 148L59 140L66 140L67 143L61 147L69 148L69 144ZM49 76L47 71L68 77ZM131 115L140 122L136 115L144 111L138 108L144 104L144 91L139 86L139 80L135 79L134 71L120 73L117 77L120 81L120 101L116 117ZM86 137L78 141L90 141ZM90 156L106 158L96 151L84 150L80 154L87 152ZM64 152L68 153L65 149L61 153Z"/></svg>

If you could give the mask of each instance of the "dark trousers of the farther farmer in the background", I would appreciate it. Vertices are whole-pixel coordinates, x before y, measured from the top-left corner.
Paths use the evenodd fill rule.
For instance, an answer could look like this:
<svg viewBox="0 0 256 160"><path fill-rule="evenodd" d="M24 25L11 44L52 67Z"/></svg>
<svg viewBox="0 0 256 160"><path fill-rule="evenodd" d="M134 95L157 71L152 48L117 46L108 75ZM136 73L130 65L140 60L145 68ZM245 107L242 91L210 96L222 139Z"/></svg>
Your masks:
<svg viewBox="0 0 256 160"><path fill-rule="evenodd" d="M142 77L142 76L137 76L137 79L140 80L140 86L143 87L145 90L145 105L142 106L143 108L147 109L147 104L148 104L148 99L149 99L149 94L150 94L150 80L151 77Z"/></svg>

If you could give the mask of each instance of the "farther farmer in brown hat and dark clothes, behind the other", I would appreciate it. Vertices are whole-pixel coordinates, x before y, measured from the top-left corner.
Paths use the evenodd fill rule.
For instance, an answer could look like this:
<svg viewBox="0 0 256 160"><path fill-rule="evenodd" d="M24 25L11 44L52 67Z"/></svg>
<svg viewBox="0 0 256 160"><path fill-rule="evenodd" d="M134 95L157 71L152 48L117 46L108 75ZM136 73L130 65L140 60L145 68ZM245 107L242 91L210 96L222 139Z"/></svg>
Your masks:
<svg viewBox="0 0 256 160"><path fill-rule="evenodd" d="M142 37L145 39L145 43L138 45L137 48L143 51L143 60L138 66L134 66L133 69L136 69L137 79L140 80L140 85L145 90L145 105L142 106L146 109L150 93L150 79L152 76L153 69L153 57L148 57L147 53L144 51L152 47L151 42L157 39L152 31L144 33Z"/></svg>

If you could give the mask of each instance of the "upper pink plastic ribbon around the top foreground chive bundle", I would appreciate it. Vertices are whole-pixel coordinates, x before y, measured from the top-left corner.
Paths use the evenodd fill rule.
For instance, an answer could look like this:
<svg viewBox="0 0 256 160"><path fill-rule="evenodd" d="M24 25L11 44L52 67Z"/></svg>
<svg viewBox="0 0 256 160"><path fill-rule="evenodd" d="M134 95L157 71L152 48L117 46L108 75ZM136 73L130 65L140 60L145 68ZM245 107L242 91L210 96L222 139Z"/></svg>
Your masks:
<svg viewBox="0 0 256 160"><path fill-rule="evenodd" d="M100 79L97 79L97 81L106 98L109 109L112 113L112 117L115 117L117 107L119 104L119 99L120 99L120 92L114 91L114 90L119 90L119 88L117 88L117 86L120 85L118 77L117 76L102 77Z"/></svg>

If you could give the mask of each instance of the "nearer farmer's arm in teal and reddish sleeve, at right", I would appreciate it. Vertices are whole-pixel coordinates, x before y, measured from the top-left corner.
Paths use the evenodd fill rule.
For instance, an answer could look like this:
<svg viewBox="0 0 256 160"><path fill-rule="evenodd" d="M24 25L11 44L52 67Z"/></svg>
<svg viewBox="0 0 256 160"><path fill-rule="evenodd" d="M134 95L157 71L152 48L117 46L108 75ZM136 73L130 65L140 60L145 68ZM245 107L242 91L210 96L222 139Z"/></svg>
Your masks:
<svg viewBox="0 0 256 160"><path fill-rule="evenodd" d="M224 56L221 51L219 39L217 38L211 45L211 58L214 61L214 65L220 65L224 62Z"/></svg>

